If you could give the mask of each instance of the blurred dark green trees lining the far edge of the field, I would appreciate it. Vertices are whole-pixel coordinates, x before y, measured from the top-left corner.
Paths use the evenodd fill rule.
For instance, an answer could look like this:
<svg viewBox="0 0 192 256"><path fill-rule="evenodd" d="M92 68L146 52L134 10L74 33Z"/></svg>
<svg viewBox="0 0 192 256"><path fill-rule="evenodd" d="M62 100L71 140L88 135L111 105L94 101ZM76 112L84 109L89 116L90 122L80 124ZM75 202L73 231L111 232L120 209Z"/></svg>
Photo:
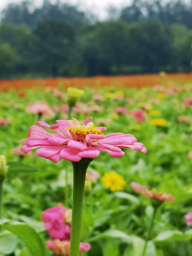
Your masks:
<svg viewBox="0 0 192 256"><path fill-rule="evenodd" d="M24 1L0 17L0 78L191 71L192 1L134 0L102 22L60 1Z"/></svg>

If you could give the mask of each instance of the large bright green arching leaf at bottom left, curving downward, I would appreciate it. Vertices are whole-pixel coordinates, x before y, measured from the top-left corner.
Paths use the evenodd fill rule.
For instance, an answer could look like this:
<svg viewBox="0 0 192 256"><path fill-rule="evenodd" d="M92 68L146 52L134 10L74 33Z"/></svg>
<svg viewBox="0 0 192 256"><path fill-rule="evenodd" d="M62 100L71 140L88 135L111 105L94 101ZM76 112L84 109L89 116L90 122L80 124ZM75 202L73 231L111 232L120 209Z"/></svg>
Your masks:
<svg viewBox="0 0 192 256"><path fill-rule="evenodd" d="M8 224L3 224L2 228L11 231L25 242L32 255L45 255L44 243L39 234L32 227L21 222L10 221Z"/></svg>

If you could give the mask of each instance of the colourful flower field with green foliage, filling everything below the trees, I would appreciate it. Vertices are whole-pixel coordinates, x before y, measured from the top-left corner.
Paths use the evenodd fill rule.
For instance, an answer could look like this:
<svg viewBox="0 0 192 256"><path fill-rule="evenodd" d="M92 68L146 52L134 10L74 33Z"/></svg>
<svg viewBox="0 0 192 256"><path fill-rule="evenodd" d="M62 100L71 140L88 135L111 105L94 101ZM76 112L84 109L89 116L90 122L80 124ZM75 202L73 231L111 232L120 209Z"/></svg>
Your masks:
<svg viewBox="0 0 192 256"><path fill-rule="evenodd" d="M191 81L0 81L0 256L77 255L73 167L84 159L80 255L191 256Z"/></svg>

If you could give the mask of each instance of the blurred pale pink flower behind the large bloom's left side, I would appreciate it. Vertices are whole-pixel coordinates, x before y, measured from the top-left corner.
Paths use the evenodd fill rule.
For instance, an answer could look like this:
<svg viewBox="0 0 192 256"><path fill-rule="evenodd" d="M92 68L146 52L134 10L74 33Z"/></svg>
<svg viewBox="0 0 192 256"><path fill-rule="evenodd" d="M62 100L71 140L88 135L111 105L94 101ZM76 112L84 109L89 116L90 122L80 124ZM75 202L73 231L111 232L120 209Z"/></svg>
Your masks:
<svg viewBox="0 0 192 256"><path fill-rule="evenodd" d="M43 116L52 116L54 114L52 108L48 106L46 101L36 101L27 106L27 112L33 114L42 114Z"/></svg>

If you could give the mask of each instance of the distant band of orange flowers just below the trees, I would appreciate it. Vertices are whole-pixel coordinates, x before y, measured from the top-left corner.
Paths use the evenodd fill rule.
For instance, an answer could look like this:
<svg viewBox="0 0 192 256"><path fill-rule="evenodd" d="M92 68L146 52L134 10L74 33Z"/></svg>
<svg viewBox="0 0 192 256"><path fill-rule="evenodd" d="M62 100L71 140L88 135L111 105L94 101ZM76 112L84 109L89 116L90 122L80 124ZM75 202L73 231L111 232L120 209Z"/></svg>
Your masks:
<svg viewBox="0 0 192 256"><path fill-rule="evenodd" d="M161 82L160 74L139 74L121 76L95 76L95 77L58 77L46 79L15 79L0 80L0 90L8 91L11 88L24 89L38 87L57 86L59 83L64 87L137 87L154 86ZM184 83L192 80L192 73L167 74L164 79Z"/></svg>

